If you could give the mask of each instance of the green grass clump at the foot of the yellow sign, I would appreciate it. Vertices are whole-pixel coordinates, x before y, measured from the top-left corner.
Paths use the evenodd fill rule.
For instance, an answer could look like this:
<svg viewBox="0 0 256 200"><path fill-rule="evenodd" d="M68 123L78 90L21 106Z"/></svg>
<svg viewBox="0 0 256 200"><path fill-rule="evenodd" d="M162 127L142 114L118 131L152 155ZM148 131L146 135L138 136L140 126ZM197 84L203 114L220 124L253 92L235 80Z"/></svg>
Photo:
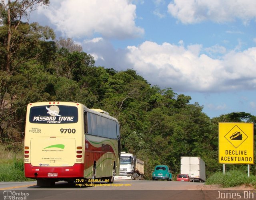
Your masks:
<svg viewBox="0 0 256 200"><path fill-rule="evenodd" d="M247 173L239 170L228 171L225 175L222 172L217 172L210 176L205 184L220 184L224 188L246 184L256 188L256 176L250 175L250 177L248 177Z"/></svg>

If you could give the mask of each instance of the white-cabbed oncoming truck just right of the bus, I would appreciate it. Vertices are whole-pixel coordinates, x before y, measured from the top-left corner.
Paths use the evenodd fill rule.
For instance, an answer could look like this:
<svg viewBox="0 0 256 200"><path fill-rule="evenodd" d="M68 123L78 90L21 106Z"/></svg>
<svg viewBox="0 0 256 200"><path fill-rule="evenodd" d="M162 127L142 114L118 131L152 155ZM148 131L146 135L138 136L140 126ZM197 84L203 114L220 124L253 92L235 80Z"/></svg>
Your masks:
<svg viewBox="0 0 256 200"><path fill-rule="evenodd" d="M119 180L144 180L144 162L131 153L121 152Z"/></svg>

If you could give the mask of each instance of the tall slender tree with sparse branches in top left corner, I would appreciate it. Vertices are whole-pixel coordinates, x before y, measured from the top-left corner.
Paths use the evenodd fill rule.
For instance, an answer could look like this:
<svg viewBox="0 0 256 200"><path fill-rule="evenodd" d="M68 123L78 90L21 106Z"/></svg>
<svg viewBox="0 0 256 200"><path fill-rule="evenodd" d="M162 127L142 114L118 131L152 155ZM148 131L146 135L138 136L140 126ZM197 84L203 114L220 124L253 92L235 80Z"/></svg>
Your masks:
<svg viewBox="0 0 256 200"><path fill-rule="evenodd" d="M23 43L23 39L26 37L23 31L28 29L28 23L23 23L22 19L26 18L28 21L30 12L36 10L39 5L47 6L49 2L49 0L0 0L0 25L3 25L1 36L5 35L4 39L1 40L5 48L5 70L7 73L12 70L14 55L21 50L19 44Z"/></svg>

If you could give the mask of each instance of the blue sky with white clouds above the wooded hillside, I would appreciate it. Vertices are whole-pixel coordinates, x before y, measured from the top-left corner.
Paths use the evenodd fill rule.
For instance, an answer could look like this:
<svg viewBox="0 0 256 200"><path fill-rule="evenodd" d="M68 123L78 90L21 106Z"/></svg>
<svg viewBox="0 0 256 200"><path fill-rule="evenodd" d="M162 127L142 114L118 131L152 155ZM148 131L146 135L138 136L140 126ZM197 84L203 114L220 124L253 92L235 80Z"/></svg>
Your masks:
<svg viewBox="0 0 256 200"><path fill-rule="evenodd" d="M256 0L50 0L30 22L72 38L96 66L191 96L210 118L256 115Z"/></svg>

